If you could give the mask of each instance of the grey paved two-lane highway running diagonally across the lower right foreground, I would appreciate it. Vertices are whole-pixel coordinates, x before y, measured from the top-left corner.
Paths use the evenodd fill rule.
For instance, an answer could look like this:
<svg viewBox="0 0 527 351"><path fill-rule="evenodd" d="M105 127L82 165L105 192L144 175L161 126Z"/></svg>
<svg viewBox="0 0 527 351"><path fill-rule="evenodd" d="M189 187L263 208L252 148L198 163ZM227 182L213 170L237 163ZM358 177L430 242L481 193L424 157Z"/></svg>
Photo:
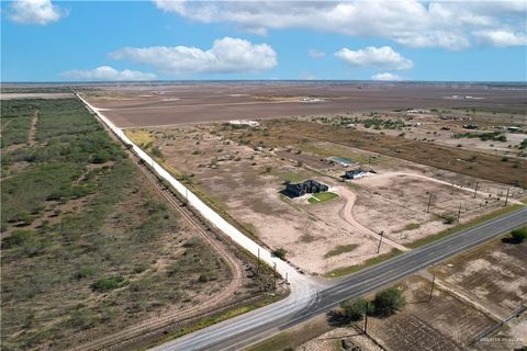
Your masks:
<svg viewBox="0 0 527 351"><path fill-rule="evenodd" d="M391 284L408 274L526 224L527 208L524 207L340 279L334 285L316 293L314 298L310 298L311 302L306 307L295 308L294 301L284 299L172 340L155 348L155 350L238 350L324 314L345 298L358 297Z"/></svg>

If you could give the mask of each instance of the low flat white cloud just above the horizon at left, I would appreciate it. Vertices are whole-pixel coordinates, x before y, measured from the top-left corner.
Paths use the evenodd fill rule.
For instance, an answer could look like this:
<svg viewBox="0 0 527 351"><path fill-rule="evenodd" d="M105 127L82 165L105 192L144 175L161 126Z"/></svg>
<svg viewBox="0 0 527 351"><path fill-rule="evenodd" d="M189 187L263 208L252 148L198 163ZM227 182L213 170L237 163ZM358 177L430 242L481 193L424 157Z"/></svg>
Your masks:
<svg viewBox="0 0 527 351"><path fill-rule="evenodd" d="M60 76L72 80L116 80L116 81L133 81L133 80L154 80L156 75L145 73L137 70L116 70L109 66L100 66L90 70L68 70Z"/></svg>

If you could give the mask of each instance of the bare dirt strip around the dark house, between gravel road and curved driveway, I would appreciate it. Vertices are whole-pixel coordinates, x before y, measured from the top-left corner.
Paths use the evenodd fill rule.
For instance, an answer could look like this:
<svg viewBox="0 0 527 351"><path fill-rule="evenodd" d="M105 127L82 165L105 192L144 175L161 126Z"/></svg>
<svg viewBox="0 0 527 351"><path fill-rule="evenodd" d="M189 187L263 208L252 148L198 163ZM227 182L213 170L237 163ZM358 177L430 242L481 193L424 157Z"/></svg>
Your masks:
<svg viewBox="0 0 527 351"><path fill-rule="evenodd" d="M290 199L280 192L285 180L310 178L327 183L339 193L343 184L327 176L281 159L268 150L222 140L211 134L213 126L184 126L154 132L169 169L189 180L192 186L221 211L251 231L269 247L283 247L287 258L312 273L324 273L339 265L351 265L377 252L373 240L339 216L344 199L310 204L304 196ZM137 134L131 134L137 136ZM187 150L181 157L181 149ZM337 246L354 246L343 254L328 254ZM382 252L390 251L382 248Z"/></svg>

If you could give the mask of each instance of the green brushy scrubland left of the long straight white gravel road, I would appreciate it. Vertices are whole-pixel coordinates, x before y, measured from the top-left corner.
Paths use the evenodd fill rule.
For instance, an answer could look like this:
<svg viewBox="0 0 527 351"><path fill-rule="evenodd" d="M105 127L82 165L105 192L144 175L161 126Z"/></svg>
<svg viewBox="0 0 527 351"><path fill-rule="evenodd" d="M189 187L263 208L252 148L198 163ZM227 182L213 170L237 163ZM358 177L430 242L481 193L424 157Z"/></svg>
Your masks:
<svg viewBox="0 0 527 351"><path fill-rule="evenodd" d="M2 348L184 330L268 298L270 274L200 235L80 101L47 98L2 102Z"/></svg>

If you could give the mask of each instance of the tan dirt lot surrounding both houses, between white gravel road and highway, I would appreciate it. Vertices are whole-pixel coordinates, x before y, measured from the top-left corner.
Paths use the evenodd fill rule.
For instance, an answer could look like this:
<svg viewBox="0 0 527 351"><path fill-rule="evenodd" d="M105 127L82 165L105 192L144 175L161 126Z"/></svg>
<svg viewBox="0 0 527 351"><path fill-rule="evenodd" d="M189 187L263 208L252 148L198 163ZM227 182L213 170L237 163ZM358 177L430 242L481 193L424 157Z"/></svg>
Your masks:
<svg viewBox="0 0 527 351"><path fill-rule="evenodd" d="M379 253L404 250L402 245L450 227L441 216L457 215L460 203L461 222L503 206L506 188L496 183L480 182L474 199L472 189L460 185L474 186L470 177L330 143L272 150L260 144L255 149L225 138L229 132L231 126L215 124L127 131L150 152L158 149L165 167L218 211L270 248L287 249L287 258L311 273L375 257L381 231ZM328 163L329 155L369 162L378 173L343 182L346 168ZM290 199L281 193L284 181L307 179L329 185L339 196L310 203L309 195Z"/></svg>

